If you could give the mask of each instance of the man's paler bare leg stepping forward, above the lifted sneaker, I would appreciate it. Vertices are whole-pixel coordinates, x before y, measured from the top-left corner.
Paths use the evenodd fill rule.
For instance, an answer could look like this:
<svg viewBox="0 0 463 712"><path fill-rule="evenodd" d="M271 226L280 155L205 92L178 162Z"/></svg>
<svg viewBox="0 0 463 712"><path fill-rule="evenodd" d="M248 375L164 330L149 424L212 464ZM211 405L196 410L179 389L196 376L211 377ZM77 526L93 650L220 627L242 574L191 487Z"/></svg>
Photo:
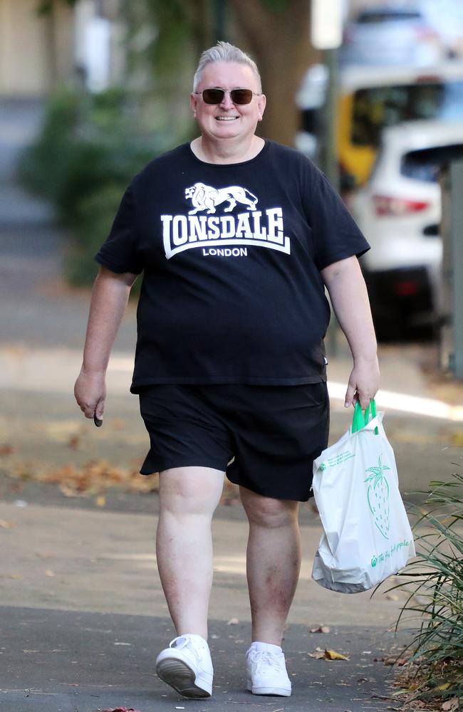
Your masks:
<svg viewBox="0 0 463 712"><path fill-rule="evenodd" d="M207 639L211 521L223 485L224 473L210 467L160 473L157 568L177 635L196 633Z"/></svg>

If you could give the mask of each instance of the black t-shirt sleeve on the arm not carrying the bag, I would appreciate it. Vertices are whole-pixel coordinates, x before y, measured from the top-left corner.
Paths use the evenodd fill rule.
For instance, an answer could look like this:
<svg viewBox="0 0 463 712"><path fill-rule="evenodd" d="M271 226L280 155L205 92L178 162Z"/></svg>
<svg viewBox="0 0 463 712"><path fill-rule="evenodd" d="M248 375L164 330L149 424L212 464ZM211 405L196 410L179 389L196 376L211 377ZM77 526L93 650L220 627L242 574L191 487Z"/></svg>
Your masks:
<svg viewBox="0 0 463 712"><path fill-rule="evenodd" d="M135 199L132 186L129 186L120 201L110 234L95 255L95 260L118 274L140 274L143 265L139 243Z"/></svg>

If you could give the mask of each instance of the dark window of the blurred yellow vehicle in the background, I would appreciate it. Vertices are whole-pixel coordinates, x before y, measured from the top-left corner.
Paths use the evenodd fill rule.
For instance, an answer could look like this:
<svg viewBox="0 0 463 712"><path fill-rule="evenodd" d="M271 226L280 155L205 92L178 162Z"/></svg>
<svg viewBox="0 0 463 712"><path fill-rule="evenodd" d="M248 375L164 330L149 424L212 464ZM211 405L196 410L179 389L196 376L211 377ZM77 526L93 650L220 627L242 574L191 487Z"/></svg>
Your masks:
<svg viewBox="0 0 463 712"><path fill-rule="evenodd" d="M378 147L385 126L416 119L462 119L463 80L359 89L352 116L353 144Z"/></svg>

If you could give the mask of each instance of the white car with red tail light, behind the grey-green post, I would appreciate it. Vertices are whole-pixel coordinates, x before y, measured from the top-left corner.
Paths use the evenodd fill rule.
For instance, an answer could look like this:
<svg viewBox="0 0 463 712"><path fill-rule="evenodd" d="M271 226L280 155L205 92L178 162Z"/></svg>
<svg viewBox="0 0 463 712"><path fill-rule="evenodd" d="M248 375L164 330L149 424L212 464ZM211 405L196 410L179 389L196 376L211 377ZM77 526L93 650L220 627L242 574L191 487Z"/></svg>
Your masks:
<svg viewBox="0 0 463 712"><path fill-rule="evenodd" d="M388 127L351 209L371 249L362 258L378 337L430 326L442 313L439 169L463 158L463 121Z"/></svg>

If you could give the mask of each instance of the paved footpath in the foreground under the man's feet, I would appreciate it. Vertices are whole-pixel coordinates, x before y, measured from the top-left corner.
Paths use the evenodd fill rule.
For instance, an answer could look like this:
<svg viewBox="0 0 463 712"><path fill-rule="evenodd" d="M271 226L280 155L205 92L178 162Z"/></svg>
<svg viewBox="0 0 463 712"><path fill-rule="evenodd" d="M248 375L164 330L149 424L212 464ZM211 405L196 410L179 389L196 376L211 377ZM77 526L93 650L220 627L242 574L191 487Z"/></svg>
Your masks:
<svg viewBox="0 0 463 712"><path fill-rule="evenodd" d="M152 496L152 512L139 514L0 503L2 710L397 708L384 659L397 654L399 641L388 630L405 595L346 596L318 587L311 564L320 526L308 511L301 580L283 644L293 696L245 691L247 526L240 508L227 506L214 520L214 696L185 701L162 684L155 656L175 633L155 572L156 504ZM329 632L311 632L321 625ZM313 657L325 649L348 660Z"/></svg>

